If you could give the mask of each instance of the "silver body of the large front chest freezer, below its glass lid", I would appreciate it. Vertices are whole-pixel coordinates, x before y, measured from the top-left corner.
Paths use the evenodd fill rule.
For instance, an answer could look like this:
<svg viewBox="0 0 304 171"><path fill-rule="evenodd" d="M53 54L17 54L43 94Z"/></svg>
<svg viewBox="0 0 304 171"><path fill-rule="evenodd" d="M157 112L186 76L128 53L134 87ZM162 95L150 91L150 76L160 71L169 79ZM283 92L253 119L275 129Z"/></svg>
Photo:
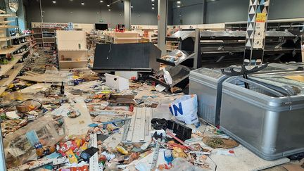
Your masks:
<svg viewBox="0 0 304 171"><path fill-rule="evenodd" d="M220 129L265 160L304 152L304 97L272 97L223 83Z"/></svg>

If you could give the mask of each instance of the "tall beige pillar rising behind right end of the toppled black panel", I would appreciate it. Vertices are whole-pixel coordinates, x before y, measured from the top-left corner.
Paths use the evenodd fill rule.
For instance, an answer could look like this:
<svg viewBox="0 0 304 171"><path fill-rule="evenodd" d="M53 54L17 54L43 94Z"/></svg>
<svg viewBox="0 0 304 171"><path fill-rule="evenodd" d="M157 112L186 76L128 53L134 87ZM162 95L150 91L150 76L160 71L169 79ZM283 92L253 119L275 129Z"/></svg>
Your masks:
<svg viewBox="0 0 304 171"><path fill-rule="evenodd" d="M165 37L167 36L167 0L158 1L158 48L162 56L167 53Z"/></svg>

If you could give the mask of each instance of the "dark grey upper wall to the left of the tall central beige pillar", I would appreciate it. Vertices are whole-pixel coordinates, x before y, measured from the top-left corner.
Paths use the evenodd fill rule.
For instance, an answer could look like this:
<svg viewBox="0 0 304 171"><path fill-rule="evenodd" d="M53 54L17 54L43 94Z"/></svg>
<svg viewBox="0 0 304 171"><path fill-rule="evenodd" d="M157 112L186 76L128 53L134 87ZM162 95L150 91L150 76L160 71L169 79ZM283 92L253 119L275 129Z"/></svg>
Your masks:
<svg viewBox="0 0 304 171"><path fill-rule="evenodd" d="M118 2L108 11L106 1L102 4L99 0L57 0L53 4L51 0L42 0L44 22L57 23L109 23L110 27L124 23L123 3ZM134 1L134 2L133 2ZM151 0L133 0L131 23L136 25L157 25L157 8L152 10ZM27 20L29 22L41 22L39 1L30 0L27 4Z"/></svg>

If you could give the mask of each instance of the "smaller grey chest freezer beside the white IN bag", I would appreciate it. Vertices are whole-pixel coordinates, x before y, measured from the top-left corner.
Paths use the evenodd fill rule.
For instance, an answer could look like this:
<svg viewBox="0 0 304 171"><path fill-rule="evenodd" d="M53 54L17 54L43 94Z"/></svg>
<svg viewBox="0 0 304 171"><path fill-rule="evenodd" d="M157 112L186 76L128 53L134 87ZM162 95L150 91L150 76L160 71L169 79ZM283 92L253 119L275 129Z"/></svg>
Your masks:
<svg viewBox="0 0 304 171"><path fill-rule="evenodd" d="M198 96L198 117L212 125L220 125L222 82L228 78L219 70L199 68L189 75L189 94Z"/></svg>

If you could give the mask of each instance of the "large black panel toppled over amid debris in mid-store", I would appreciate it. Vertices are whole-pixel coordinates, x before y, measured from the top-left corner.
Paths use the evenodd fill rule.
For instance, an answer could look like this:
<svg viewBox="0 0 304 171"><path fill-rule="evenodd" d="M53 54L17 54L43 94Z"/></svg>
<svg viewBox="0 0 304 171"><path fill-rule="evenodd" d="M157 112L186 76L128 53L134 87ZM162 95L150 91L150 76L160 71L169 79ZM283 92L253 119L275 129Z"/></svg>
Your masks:
<svg viewBox="0 0 304 171"><path fill-rule="evenodd" d="M96 44L92 70L96 72L159 70L160 49L153 43Z"/></svg>

